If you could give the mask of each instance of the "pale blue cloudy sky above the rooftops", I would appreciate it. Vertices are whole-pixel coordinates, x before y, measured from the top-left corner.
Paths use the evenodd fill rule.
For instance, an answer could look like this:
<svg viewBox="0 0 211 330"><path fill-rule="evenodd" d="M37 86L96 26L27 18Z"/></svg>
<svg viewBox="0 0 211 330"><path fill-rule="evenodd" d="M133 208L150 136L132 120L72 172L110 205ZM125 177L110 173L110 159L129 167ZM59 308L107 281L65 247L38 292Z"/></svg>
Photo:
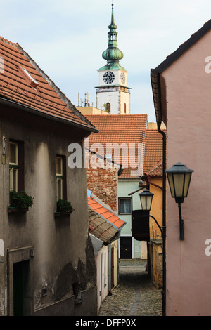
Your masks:
<svg viewBox="0 0 211 330"><path fill-rule="evenodd" d="M112 2L131 113L155 122L151 68L210 20L210 0L0 0L0 35L20 44L74 105L88 92L96 107Z"/></svg>

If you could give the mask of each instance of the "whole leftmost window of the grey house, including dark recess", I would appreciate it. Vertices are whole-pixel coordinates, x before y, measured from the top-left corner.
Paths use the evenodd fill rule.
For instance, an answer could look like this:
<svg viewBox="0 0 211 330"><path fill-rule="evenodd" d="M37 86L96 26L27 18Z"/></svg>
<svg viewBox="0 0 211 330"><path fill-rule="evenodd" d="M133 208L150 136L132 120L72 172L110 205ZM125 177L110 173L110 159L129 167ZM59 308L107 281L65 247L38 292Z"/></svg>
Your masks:
<svg viewBox="0 0 211 330"><path fill-rule="evenodd" d="M24 190L24 147L23 142L9 142L10 191Z"/></svg>

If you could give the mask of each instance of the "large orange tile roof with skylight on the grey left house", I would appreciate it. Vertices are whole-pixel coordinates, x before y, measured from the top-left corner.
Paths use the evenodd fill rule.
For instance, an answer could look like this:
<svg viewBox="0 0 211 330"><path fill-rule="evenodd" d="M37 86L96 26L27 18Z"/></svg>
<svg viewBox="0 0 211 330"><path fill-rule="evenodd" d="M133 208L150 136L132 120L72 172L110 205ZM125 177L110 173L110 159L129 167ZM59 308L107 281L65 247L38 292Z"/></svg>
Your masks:
<svg viewBox="0 0 211 330"><path fill-rule="evenodd" d="M18 44L0 37L0 60L0 98L77 123L84 128L93 128ZM22 68L38 84L32 82Z"/></svg>

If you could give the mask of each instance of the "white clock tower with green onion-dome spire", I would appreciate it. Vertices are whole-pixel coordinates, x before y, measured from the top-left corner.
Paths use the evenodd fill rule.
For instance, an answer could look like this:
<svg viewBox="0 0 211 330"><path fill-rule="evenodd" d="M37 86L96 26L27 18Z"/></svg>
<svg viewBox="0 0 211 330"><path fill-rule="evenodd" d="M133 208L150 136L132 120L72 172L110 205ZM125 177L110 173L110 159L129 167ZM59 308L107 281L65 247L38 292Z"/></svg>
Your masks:
<svg viewBox="0 0 211 330"><path fill-rule="evenodd" d="M120 65L124 55L117 47L117 25L114 20L113 4L108 28L108 48L102 55L107 64L98 70L96 107L110 114L130 114L130 88L127 87L127 71Z"/></svg>

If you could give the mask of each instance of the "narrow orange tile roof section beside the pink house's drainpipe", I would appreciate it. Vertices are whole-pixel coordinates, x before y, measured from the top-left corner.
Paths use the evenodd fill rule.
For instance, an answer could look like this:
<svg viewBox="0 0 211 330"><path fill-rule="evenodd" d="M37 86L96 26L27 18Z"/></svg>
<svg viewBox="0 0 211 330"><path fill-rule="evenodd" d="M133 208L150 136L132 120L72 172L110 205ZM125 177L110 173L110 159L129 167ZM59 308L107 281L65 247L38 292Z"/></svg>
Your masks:
<svg viewBox="0 0 211 330"><path fill-rule="evenodd" d="M149 176L162 176L162 136L156 129L146 130L143 172Z"/></svg>

